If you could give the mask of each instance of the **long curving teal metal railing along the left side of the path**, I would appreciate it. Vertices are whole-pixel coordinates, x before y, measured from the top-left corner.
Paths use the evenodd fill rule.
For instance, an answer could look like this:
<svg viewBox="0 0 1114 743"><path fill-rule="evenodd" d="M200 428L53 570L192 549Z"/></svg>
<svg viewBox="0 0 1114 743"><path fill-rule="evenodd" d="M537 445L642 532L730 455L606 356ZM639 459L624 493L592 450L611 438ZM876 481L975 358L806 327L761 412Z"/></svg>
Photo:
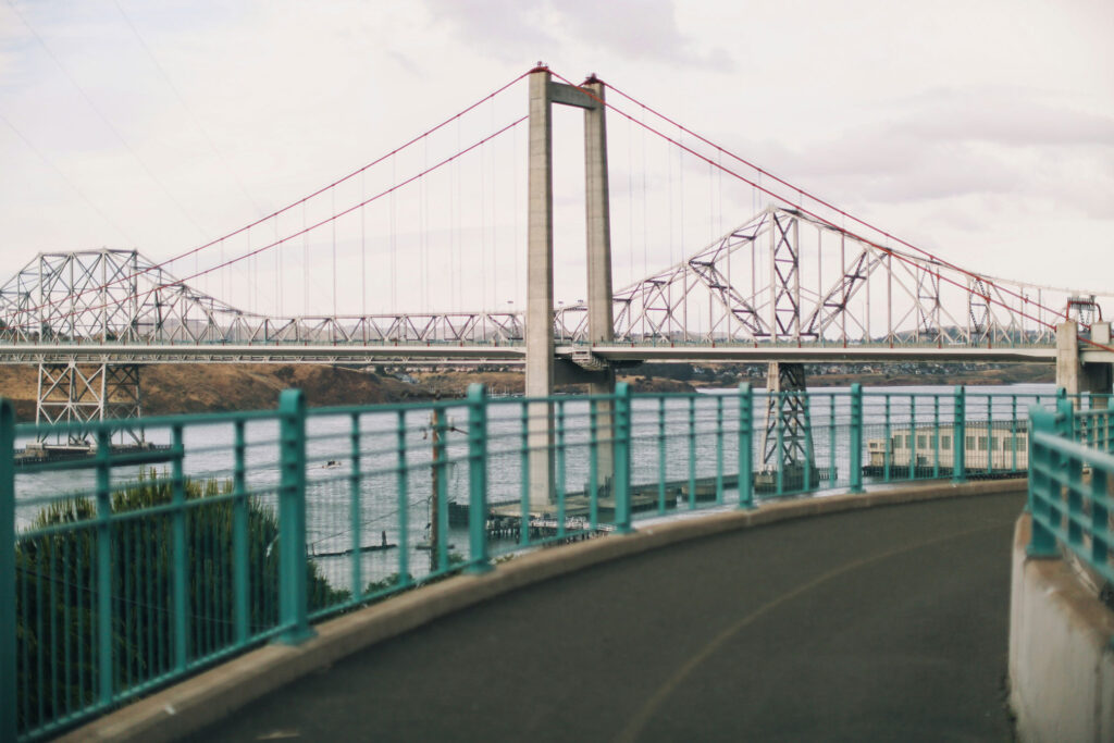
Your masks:
<svg viewBox="0 0 1114 743"><path fill-rule="evenodd" d="M1077 430L1108 449L1106 400L1077 402L1096 409ZM306 410L286 391L270 411L128 421L145 444L120 448L120 421L14 426L0 401L0 739L58 733L524 548L677 511L1024 472L1018 411L1056 403L858 385L488 399L473 385L463 400ZM540 447L539 408L553 414ZM18 451L71 434L97 446Z"/></svg>

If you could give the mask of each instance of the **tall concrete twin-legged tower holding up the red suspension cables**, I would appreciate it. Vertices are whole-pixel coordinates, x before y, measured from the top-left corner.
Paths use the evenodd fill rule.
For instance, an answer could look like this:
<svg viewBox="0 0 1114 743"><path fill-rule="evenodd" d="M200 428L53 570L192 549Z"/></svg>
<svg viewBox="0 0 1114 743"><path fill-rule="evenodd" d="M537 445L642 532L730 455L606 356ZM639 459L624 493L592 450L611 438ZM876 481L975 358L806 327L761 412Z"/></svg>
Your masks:
<svg viewBox="0 0 1114 743"><path fill-rule="evenodd" d="M529 84L529 192L527 219L527 307L526 307L526 395L548 398L554 392L554 233L553 233L553 115L551 104L585 109L585 188L588 252L588 341L610 342L612 316L610 216L607 189L607 137L603 106L604 84L595 77L583 87L550 79L549 70L537 67ZM567 365L567 364L566 364ZM589 392L615 391L613 369L597 363L582 365L592 372ZM597 437L604 441L597 452L599 482L614 476L614 417L610 403L597 411ZM529 452L530 506L546 510L554 493L553 404L531 403L527 434Z"/></svg>

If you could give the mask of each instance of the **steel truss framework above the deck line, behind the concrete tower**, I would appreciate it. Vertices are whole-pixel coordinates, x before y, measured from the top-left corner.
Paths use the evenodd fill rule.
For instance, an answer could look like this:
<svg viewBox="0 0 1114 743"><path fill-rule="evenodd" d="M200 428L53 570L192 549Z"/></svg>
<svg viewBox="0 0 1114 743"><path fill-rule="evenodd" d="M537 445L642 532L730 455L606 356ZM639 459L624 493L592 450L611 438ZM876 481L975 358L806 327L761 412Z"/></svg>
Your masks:
<svg viewBox="0 0 1114 743"><path fill-rule="evenodd" d="M1054 345L1078 290L966 274L769 207L673 266L614 292L626 343ZM1093 293L1093 292L1091 292ZM554 338L587 339L583 304L554 313ZM135 251L42 254L0 286L0 341L59 348L153 344L506 344L514 312L266 316L178 281Z"/></svg>

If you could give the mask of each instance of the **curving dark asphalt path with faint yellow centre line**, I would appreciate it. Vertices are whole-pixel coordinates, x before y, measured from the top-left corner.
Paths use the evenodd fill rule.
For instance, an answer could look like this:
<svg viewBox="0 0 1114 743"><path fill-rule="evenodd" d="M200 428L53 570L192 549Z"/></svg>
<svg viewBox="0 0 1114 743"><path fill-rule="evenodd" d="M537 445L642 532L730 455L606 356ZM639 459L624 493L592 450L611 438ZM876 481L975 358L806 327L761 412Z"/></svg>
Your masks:
<svg viewBox="0 0 1114 743"><path fill-rule="evenodd" d="M372 646L190 740L1010 740L1023 505L879 507L602 564Z"/></svg>

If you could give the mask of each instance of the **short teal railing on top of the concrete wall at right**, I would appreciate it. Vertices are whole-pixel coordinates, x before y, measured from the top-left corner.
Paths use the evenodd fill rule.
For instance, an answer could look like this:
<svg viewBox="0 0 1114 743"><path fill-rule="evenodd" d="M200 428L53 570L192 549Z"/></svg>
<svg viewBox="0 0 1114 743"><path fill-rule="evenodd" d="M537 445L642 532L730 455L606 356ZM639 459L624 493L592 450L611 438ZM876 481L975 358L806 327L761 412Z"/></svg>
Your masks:
<svg viewBox="0 0 1114 743"><path fill-rule="evenodd" d="M1114 584L1114 410L1076 409L1064 398L1053 410L1034 408L1030 420L1028 554L1058 557L1063 545Z"/></svg>

